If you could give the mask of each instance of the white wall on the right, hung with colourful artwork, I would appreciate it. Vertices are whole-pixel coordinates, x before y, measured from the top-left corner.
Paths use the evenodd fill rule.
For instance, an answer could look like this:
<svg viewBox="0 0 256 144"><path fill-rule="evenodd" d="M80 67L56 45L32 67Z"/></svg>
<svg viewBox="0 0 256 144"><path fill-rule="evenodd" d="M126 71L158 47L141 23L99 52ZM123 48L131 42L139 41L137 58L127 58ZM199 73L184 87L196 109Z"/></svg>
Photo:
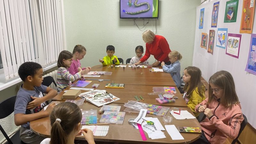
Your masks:
<svg viewBox="0 0 256 144"><path fill-rule="evenodd" d="M253 92L256 89L256 76L244 71L248 59L248 53L250 50L251 34L242 34L239 59L226 55L226 49L216 47L216 34L218 32L218 28L228 28L228 33L240 34L239 30L242 17L243 1L239 0L236 22L233 23L224 23L226 2L228 0L220 1L217 28L211 28L213 3L218 1L220 0L214 0L197 7L195 35L196 38L194 47L193 66L199 67L201 69L202 76L207 81L209 81L210 76L212 76L212 74L214 74L217 71L226 70L230 72L235 81L236 93L238 95L239 101L241 102L242 111L244 115L247 117L248 122L254 128L256 128L256 113L254 112L254 108L256 108L256 94ZM200 9L202 8L204 8L204 28L198 29L199 13ZM210 29L215 30L213 55L207 53L207 50L200 47L201 33L208 33L209 37ZM256 33L255 19L252 33Z"/></svg>

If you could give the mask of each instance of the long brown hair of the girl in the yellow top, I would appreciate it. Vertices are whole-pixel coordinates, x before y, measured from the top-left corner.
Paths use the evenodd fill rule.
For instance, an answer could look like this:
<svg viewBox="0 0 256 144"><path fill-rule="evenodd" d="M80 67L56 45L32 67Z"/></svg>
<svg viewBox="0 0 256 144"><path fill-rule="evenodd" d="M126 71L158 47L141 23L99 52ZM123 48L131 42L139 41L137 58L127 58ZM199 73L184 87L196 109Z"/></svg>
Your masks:
<svg viewBox="0 0 256 144"><path fill-rule="evenodd" d="M186 83L184 86L184 91L187 91L187 94L190 95L196 89L201 97L203 97L203 93L205 92L205 85L201 82L202 72L197 67L187 67L188 75L190 75L190 84Z"/></svg>

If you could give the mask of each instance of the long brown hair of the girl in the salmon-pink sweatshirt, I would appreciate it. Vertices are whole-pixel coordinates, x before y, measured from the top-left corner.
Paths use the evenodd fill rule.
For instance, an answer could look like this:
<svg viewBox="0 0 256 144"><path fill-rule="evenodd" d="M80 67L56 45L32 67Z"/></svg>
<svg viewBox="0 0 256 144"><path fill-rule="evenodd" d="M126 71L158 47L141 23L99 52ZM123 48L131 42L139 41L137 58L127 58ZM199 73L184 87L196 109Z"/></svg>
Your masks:
<svg viewBox="0 0 256 144"><path fill-rule="evenodd" d="M214 84L223 89L223 96L220 98L220 104L224 107L232 107L234 104L239 104L238 97L236 95L235 83L232 75L228 71L218 71L210 77L209 83ZM207 103L211 103L214 99L214 94L209 85L209 100Z"/></svg>

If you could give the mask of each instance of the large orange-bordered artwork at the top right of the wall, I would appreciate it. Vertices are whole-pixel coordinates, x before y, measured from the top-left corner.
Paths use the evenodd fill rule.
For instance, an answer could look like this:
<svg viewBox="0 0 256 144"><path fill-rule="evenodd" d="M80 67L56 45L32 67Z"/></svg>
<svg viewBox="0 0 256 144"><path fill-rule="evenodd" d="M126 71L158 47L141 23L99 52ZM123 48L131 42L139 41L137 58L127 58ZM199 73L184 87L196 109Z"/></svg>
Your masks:
<svg viewBox="0 0 256 144"><path fill-rule="evenodd" d="M253 18L254 18L254 5L255 1L253 0L244 0L243 10L242 10L242 19L240 26L240 33L252 33Z"/></svg>

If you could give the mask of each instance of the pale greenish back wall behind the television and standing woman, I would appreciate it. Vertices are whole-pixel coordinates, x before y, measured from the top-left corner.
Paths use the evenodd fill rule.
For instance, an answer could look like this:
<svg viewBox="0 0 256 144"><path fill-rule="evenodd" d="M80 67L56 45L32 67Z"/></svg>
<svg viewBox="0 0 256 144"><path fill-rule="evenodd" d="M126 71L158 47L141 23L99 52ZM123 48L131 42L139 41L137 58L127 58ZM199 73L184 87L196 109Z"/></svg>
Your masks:
<svg viewBox="0 0 256 144"><path fill-rule="evenodd" d="M114 45L115 55L125 61L135 56L136 46L142 45L145 49L141 35L147 29L155 32L156 26L156 34L167 39L171 50L182 54L181 69L184 69L192 65L196 6L200 3L201 0L160 0L159 19L150 19L149 24L140 30L132 19L119 18L119 0L66 0L68 51L72 52L76 44L84 45L87 53L81 63L83 66L94 66L101 64L99 59L107 55L107 45ZM147 21L145 19L144 23ZM143 27L143 20L136 19L136 23ZM151 56L149 63L153 62L155 59Z"/></svg>

